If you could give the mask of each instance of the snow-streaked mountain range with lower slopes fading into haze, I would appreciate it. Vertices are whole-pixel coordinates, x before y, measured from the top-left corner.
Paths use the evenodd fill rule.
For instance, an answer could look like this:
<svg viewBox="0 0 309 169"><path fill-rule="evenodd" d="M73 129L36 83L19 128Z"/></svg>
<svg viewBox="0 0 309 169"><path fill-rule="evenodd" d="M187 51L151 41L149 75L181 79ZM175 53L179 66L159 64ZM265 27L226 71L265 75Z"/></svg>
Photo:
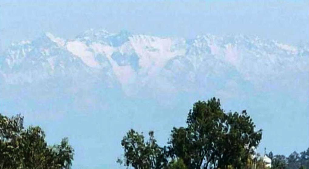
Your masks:
<svg viewBox="0 0 309 169"><path fill-rule="evenodd" d="M308 72L308 53L308 47L242 35L184 39L90 29L65 40L46 33L11 44L0 57L0 81L9 85L85 76L119 83L126 93L207 88L218 79L260 85Z"/></svg>

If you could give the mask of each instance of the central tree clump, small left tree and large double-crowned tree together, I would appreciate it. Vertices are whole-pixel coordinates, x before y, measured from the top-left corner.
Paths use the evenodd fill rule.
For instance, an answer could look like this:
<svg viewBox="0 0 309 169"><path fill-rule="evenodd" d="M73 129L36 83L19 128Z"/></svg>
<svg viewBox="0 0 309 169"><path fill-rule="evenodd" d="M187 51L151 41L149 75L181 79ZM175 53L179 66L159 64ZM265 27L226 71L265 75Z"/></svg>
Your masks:
<svg viewBox="0 0 309 169"><path fill-rule="evenodd" d="M186 167L188 169L245 167L250 147L256 147L262 131L246 111L225 113L220 100L198 101L187 117L187 126L173 128L167 147L155 144L153 132L144 137L130 130L121 141L125 166L136 169ZM175 159L179 159L176 160ZM167 162L173 165L167 165ZM183 163L184 165L181 165Z"/></svg>

